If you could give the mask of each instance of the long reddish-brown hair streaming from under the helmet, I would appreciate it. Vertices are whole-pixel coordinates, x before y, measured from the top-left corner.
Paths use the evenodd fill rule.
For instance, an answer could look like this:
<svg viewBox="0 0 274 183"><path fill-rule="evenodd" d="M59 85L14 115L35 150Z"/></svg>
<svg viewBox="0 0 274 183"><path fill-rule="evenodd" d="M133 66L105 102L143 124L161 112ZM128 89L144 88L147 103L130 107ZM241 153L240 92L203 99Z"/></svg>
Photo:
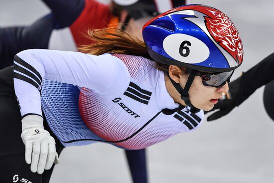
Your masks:
<svg viewBox="0 0 274 183"><path fill-rule="evenodd" d="M101 55L103 53L129 54L142 56L154 61L149 56L142 40L119 28L107 27L89 30L86 38L90 39L93 43L80 46L78 49L83 53L93 55ZM169 65L155 61L153 66L158 70L168 73ZM188 74L184 70L182 73Z"/></svg>

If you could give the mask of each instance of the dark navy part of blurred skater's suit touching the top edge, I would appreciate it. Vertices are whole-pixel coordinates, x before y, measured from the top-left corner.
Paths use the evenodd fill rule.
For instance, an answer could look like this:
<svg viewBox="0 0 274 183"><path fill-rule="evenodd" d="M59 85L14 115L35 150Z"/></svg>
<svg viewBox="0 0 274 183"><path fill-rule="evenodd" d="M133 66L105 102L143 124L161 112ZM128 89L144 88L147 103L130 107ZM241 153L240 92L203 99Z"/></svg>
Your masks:
<svg viewBox="0 0 274 183"><path fill-rule="evenodd" d="M55 29L70 26L81 14L85 7L85 0L43 0L51 9L55 18Z"/></svg>

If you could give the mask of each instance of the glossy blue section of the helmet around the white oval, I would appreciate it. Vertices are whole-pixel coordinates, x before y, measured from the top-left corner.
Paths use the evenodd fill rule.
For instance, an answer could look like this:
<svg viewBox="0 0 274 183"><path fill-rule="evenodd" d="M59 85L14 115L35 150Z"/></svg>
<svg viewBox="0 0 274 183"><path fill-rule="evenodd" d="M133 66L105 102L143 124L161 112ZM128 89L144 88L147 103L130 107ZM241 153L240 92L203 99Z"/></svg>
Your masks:
<svg viewBox="0 0 274 183"><path fill-rule="evenodd" d="M208 35L196 24L185 19L186 17L195 16L172 14L160 17L151 22L149 26L143 29L143 38L145 40L146 46L150 47L153 51L164 57L175 60L165 52L163 48L163 40L165 37L171 34L187 34L204 42L210 50L210 55L206 60L192 65L202 67L229 68L229 64L226 58L208 37ZM174 49L178 49L179 51L178 47L175 47Z"/></svg>

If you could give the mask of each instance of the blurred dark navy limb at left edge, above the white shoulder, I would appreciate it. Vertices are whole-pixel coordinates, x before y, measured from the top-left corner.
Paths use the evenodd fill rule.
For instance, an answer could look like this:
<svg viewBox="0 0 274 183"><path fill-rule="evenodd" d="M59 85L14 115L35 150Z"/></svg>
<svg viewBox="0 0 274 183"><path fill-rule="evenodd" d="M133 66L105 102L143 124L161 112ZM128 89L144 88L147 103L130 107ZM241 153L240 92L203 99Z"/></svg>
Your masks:
<svg viewBox="0 0 274 183"><path fill-rule="evenodd" d="M55 19L52 13L30 26L0 28L0 69L13 65L16 53L32 48L47 49Z"/></svg>

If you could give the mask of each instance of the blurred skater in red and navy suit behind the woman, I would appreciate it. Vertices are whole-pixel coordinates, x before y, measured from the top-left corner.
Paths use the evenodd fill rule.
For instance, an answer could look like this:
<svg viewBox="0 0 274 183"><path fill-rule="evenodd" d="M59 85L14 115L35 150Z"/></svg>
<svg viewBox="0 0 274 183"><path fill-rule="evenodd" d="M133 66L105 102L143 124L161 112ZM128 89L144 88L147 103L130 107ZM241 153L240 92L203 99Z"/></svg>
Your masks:
<svg viewBox="0 0 274 183"><path fill-rule="evenodd" d="M76 45L89 43L84 35L88 28L118 27L141 38L142 18L155 16L167 8L184 4L184 0L139 0L134 4L113 0L109 5L95 0L43 0L52 13L30 26L0 28L0 68L12 64L13 55L31 48L48 48L53 29L70 26ZM140 21L141 20L141 21ZM128 28L129 27L129 28ZM6 81L8 82L8 80ZM145 151L126 150L134 183L146 183Z"/></svg>

